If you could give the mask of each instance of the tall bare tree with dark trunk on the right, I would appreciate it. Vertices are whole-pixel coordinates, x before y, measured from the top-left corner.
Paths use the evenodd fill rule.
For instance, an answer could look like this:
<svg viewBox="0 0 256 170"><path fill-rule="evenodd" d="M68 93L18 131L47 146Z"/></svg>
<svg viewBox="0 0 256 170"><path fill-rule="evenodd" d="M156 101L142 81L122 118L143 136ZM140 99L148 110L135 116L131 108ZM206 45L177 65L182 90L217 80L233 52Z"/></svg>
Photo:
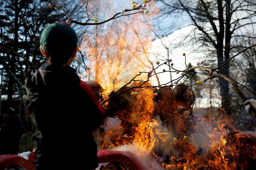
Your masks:
<svg viewBox="0 0 256 170"><path fill-rule="evenodd" d="M212 51L218 67L230 59L230 55L240 50L239 41L249 40L254 36L255 7L254 0L159 0L160 10L164 16L187 16L191 31L185 39L178 42L179 46L192 45L198 53ZM244 34L248 32L248 34ZM189 38L189 41L184 41ZM237 42L238 41L238 42ZM184 42L184 43L182 43ZM239 44L239 45L238 45ZM214 57L214 56L212 56ZM230 76L230 64L226 63L218 72ZM227 81L218 79L222 107L230 112L230 89Z"/></svg>

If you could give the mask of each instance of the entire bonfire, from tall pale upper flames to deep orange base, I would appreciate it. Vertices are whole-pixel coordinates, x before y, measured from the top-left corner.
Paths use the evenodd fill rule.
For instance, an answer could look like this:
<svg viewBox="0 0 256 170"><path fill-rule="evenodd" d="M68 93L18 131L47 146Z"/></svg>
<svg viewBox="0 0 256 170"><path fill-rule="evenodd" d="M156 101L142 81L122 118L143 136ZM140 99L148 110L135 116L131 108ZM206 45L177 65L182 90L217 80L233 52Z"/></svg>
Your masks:
<svg viewBox="0 0 256 170"><path fill-rule="evenodd" d="M122 19L86 32L79 47L90 67L82 79L102 86L100 101L110 99L103 105L104 123L94 132L98 150L133 147L140 158L150 157L148 170L247 169L256 160L256 140L236 129L223 110L198 122L189 107L184 109L188 103L174 99L172 87L152 88L151 79L139 82L154 68L146 52L152 28L137 15Z"/></svg>

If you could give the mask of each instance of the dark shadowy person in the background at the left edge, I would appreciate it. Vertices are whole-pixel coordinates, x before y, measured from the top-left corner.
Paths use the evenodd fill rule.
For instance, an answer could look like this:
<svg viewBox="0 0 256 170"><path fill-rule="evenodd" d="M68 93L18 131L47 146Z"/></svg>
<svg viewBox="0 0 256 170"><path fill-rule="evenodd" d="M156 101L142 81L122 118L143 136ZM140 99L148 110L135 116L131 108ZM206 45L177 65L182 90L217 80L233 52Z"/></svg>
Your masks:
<svg viewBox="0 0 256 170"><path fill-rule="evenodd" d="M4 112L0 130L0 154L18 154L20 138L25 133L25 127L11 107Z"/></svg>

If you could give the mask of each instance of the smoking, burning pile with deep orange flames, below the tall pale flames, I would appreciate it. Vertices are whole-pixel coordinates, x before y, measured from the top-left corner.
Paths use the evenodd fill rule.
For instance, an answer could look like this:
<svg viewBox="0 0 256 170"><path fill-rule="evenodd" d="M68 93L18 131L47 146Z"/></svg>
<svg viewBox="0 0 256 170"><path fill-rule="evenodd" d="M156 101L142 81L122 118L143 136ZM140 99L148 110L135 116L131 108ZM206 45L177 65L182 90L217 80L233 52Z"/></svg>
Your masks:
<svg viewBox="0 0 256 170"><path fill-rule="evenodd" d="M97 93L102 91L97 87ZM110 99L104 123L94 132L99 149L134 148L147 161L148 170L255 167L254 132L237 130L222 110L214 118L193 115L195 95L190 87L179 84L174 89L157 89L148 82L134 82L121 90Z"/></svg>

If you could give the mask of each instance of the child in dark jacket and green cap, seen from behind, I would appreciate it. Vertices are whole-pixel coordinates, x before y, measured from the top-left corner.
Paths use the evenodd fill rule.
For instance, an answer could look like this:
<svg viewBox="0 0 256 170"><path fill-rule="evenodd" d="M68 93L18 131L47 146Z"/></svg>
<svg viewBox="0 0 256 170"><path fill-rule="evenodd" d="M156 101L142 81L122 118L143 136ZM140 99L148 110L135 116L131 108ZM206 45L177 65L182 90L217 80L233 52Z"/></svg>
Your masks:
<svg viewBox="0 0 256 170"><path fill-rule="evenodd" d="M47 63L26 79L36 170L98 167L92 132L100 128L105 111L90 85L70 67L77 43L78 37L67 23L44 28L40 50Z"/></svg>

